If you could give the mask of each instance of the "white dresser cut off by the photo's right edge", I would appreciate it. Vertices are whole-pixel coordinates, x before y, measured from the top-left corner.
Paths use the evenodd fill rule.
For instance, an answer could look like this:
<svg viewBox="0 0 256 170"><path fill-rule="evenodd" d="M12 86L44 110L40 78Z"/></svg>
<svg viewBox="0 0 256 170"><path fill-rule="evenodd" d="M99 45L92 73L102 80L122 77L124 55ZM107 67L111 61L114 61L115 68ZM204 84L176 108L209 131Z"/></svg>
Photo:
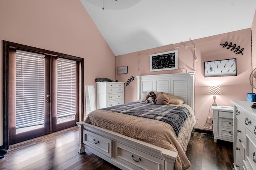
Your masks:
<svg viewBox="0 0 256 170"><path fill-rule="evenodd" d="M234 104L234 169L256 170L256 109L254 102Z"/></svg>

